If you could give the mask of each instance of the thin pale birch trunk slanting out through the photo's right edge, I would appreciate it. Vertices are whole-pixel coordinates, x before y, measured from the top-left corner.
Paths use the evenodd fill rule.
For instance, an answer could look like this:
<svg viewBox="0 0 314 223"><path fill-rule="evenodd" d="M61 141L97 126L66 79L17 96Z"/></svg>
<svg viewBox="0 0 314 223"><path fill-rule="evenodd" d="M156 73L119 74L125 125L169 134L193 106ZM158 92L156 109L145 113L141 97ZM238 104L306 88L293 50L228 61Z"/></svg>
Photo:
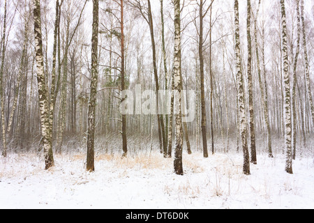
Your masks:
<svg viewBox="0 0 314 223"><path fill-rule="evenodd" d="M313 98L312 98L312 91L311 91L310 67L308 64L308 48L306 45L306 30L305 30L305 22L304 22L304 0L301 0L301 22L302 22L304 61L305 61L306 89L308 93L308 102L310 103L312 124L314 126L314 105L313 105Z"/></svg>

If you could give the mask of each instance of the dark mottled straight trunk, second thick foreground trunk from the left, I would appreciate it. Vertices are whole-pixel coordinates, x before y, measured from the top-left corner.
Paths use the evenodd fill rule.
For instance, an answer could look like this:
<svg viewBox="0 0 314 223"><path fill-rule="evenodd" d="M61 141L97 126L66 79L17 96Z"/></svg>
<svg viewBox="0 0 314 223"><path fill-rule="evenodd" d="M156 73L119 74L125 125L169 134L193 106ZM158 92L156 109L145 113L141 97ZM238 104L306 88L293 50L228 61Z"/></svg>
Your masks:
<svg viewBox="0 0 314 223"><path fill-rule="evenodd" d="M96 96L98 87L98 0L93 0L93 25L91 37L91 93L89 95L87 127L87 171L95 171L94 141Z"/></svg>

